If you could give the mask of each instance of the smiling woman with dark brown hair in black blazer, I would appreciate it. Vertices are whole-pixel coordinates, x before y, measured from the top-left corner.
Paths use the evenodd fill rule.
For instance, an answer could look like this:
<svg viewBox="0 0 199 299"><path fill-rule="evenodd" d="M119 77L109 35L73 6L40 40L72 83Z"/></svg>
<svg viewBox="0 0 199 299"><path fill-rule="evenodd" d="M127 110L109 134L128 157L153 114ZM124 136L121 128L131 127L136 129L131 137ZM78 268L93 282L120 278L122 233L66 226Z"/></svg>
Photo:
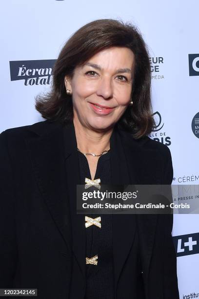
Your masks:
<svg viewBox="0 0 199 299"><path fill-rule="evenodd" d="M64 45L44 122L0 135L0 288L43 299L178 299L171 215L76 213L76 185L171 184L153 119L146 45L92 21Z"/></svg>

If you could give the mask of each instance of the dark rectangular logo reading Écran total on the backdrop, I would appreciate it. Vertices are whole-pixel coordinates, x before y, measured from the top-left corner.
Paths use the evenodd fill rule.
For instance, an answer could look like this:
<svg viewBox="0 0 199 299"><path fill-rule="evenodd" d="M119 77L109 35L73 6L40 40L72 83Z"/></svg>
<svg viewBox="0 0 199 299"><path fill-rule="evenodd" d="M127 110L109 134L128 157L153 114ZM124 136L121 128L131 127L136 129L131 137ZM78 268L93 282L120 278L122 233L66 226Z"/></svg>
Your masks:
<svg viewBox="0 0 199 299"><path fill-rule="evenodd" d="M24 85L50 84L55 62L55 59L10 61L10 79L24 80Z"/></svg>

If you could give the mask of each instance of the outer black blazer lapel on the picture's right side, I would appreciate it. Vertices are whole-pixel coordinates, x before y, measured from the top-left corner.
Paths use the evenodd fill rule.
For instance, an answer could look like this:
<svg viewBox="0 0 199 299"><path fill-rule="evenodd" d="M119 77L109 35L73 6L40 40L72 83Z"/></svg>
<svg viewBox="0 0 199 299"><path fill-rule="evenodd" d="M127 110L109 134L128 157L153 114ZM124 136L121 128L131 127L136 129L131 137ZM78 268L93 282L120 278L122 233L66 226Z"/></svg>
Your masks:
<svg viewBox="0 0 199 299"><path fill-rule="evenodd" d="M121 132L121 135L126 159L128 161L127 165L130 172L131 184L158 184L161 174L158 170L155 174L152 173L154 165L157 165L158 163L158 159L156 161L154 151L147 150L142 147L142 145L149 140L148 137L136 140L126 132ZM148 282L150 261L153 253L157 219L158 214L136 214L137 229L139 232L142 274L146 284Z"/></svg>

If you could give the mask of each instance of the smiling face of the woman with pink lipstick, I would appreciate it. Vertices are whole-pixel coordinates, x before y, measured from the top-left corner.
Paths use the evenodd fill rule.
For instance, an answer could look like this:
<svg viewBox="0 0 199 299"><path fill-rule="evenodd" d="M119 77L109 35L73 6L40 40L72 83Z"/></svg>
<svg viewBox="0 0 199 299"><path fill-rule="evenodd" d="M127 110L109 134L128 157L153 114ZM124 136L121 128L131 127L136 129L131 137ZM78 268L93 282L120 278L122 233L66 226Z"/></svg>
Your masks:
<svg viewBox="0 0 199 299"><path fill-rule="evenodd" d="M76 67L72 79L66 76L74 122L96 131L112 128L131 101L134 65L129 48L111 47Z"/></svg>

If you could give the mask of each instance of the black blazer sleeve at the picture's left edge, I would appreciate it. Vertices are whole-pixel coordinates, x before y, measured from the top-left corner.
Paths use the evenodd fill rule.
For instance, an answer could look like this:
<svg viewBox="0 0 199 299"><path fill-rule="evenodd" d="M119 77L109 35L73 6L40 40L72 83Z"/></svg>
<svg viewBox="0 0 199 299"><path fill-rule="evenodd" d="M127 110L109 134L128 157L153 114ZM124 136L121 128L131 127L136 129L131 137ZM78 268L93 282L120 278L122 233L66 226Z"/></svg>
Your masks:
<svg viewBox="0 0 199 299"><path fill-rule="evenodd" d="M13 285L17 264L13 171L7 130L0 134L0 288Z"/></svg>

